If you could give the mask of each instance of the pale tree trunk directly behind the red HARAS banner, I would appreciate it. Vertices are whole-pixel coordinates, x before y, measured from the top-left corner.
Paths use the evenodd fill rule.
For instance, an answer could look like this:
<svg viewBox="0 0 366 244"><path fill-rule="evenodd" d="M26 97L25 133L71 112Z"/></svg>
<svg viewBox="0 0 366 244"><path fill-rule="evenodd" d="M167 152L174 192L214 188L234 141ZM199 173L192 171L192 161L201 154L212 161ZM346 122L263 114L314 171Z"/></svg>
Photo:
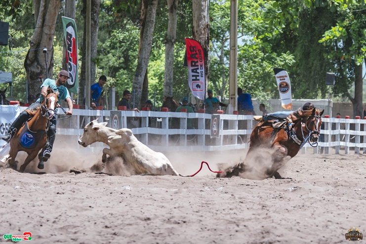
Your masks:
<svg viewBox="0 0 366 244"><path fill-rule="evenodd" d="M207 97L209 65L209 15L208 0L193 0L193 39L200 42L204 54L204 76ZM193 97L193 96L192 96ZM197 103L198 104L198 103Z"/></svg>

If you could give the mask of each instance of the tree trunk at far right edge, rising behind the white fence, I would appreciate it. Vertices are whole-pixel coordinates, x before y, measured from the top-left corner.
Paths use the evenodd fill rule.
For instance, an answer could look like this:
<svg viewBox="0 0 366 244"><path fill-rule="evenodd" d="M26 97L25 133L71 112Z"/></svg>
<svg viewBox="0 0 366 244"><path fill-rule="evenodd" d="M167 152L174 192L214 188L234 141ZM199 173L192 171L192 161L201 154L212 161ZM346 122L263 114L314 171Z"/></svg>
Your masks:
<svg viewBox="0 0 366 244"><path fill-rule="evenodd" d="M349 93L348 98L351 100L353 105L353 119L356 116L360 116L363 119L363 106L362 106L362 96L363 96L363 74L362 65L357 65L355 68L355 98L353 98Z"/></svg>

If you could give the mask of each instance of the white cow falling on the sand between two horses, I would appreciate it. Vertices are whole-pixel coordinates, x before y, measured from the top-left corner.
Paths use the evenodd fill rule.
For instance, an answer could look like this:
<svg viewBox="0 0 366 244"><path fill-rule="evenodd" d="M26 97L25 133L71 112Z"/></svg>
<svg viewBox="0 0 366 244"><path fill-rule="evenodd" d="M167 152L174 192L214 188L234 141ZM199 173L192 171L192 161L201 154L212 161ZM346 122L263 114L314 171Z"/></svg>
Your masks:
<svg viewBox="0 0 366 244"><path fill-rule="evenodd" d="M107 122L98 123L96 120L88 123L79 139L79 144L83 147L97 141L107 144L110 149L103 149L103 163L106 162L108 154L122 157L124 162L131 164L136 174L179 175L162 153L142 144L130 129L116 130L107 127L106 124Z"/></svg>

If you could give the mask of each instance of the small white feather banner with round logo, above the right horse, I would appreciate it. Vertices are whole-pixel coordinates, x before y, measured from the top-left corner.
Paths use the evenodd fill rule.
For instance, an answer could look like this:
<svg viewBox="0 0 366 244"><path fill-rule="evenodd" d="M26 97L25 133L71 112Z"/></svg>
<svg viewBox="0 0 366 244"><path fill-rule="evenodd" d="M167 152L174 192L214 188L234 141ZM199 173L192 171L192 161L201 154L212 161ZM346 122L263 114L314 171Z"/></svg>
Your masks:
<svg viewBox="0 0 366 244"><path fill-rule="evenodd" d="M275 68L277 87L280 92L281 105L284 109L292 110L291 82L284 69Z"/></svg>

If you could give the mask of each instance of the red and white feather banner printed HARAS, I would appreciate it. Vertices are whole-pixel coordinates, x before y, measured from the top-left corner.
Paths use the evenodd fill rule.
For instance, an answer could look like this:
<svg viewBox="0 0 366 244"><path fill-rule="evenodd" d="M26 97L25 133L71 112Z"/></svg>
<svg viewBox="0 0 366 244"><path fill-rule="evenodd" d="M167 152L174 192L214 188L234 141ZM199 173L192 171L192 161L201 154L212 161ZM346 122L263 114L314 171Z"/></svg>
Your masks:
<svg viewBox="0 0 366 244"><path fill-rule="evenodd" d="M204 56L200 43L196 40L186 38L188 83L192 95L204 100Z"/></svg>

